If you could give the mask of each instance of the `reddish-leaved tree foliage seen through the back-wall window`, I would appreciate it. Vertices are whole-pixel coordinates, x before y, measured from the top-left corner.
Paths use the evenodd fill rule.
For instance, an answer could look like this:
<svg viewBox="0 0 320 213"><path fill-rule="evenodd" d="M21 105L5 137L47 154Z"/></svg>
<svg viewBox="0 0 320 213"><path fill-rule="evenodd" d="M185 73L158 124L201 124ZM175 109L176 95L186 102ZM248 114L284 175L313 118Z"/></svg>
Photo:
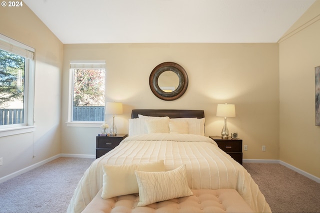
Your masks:
<svg viewBox="0 0 320 213"><path fill-rule="evenodd" d="M104 69L74 69L73 105L104 105Z"/></svg>

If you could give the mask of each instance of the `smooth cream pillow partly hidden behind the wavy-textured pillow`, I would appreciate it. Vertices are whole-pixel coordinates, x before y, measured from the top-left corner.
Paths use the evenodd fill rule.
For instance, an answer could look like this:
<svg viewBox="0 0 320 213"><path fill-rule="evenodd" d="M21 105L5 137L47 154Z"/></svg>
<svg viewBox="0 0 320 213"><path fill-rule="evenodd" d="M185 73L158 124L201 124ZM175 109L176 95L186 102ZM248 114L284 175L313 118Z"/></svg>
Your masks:
<svg viewBox="0 0 320 213"><path fill-rule="evenodd" d="M138 193L139 188L134 170L165 171L163 160L139 164L103 165L103 182L101 197Z"/></svg>

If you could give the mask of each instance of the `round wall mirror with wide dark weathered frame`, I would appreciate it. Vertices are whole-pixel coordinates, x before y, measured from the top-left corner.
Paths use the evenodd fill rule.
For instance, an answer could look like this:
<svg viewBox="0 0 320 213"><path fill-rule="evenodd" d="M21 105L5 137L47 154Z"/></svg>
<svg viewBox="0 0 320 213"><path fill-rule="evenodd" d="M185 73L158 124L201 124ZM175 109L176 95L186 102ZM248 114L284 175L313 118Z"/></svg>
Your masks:
<svg viewBox="0 0 320 213"><path fill-rule="evenodd" d="M155 66L149 76L149 85L155 96L162 100L175 100L188 86L188 76L177 63L163 62Z"/></svg>

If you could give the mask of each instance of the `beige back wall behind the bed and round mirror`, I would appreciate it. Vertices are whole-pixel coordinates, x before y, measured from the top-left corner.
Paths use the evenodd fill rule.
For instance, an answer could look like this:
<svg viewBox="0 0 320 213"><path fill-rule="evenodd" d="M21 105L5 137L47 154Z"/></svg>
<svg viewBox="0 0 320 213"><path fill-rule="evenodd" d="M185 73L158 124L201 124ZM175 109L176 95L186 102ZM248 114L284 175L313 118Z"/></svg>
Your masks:
<svg viewBox="0 0 320 213"><path fill-rule="evenodd" d="M243 158L279 158L279 48L277 43L65 44L62 81L62 153L94 154L99 128L67 127L70 60L106 61L106 98L121 101L118 132L128 131L133 108L204 109L206 135L220 135L217 103L234 103L229 131L238 131L248 151ZM180 64L189 85L177 100L164 101L150 90L152 69L164 61ZM111 117L107 117L111 123ZM266 151L261 151L266 145Z"/></svg>

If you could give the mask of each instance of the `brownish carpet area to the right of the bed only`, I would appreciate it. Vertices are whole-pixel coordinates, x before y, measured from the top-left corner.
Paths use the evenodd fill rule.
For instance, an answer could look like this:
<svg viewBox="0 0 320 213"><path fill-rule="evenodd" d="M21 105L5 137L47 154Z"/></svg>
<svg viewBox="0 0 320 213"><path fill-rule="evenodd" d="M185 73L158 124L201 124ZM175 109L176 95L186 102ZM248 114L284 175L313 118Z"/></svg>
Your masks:
<svg viewBox="0 0 320 213"><path fill-rule="evenodd" d="M272 212L320 212L320 183L278 163L243 163Z"/></svg>

